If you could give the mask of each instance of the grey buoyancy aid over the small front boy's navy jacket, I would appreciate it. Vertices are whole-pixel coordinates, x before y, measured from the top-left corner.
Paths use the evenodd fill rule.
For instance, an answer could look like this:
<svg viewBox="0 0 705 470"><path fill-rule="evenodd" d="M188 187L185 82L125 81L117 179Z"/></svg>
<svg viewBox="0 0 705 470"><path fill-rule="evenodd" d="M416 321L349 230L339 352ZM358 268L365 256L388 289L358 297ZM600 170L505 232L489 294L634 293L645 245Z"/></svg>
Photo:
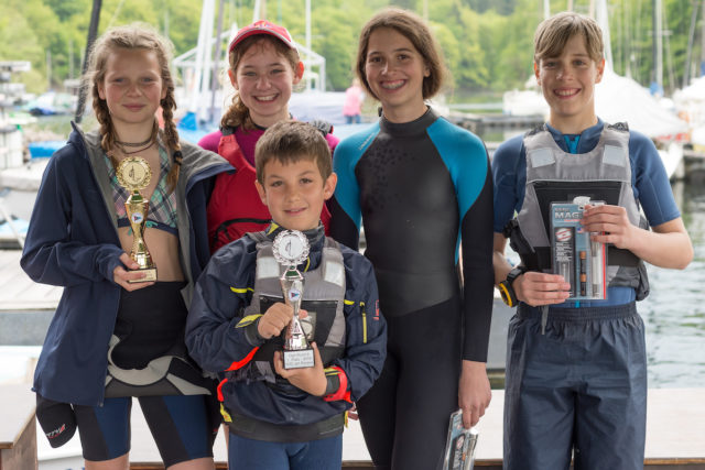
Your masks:
<svg viewBox="0 0 705 470"><path fill-rule="evenodd" d="M245 316L263 314L276 302L284 302L280 277L284 269L276 262L272 251L272 241L263 232L248 233L257 241L257 264L252 300L245 308ZM304 276L303 300L301 308L308 316L302 318L302 327L308 341L318 345L323 367L345 353L345 264L343 253L336 241L325 238L321 262L314 270L302 273ZM284 329L285 331L285 329ZM282 332L283 335L283 332ZM281 350L283 336L267 340L243 368L227 372L232 381L264 380L271 384L288 381L276 380L274 373L274 351ZM293 386L293 385L290 385ZM286 386L283 386L286 389Z"/></svg>

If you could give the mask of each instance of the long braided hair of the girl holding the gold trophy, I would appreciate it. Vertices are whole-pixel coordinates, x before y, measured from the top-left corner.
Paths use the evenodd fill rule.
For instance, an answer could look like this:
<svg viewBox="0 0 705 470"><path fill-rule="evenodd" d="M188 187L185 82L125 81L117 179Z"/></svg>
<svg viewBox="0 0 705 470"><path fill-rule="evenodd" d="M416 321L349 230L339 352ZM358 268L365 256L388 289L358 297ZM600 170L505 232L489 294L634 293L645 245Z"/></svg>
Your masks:
<svg viewBox="0 0 705 470"><path fill-rule="evenodd" d="M113 167L117 167L117 160L112 155L116 149L117 134L110 118L110 110L105 99L100 98L98 85L102 84L106 77L106 64L110 54L116 50L134 50L153 51L160 65L160 75L162 77L162 87L166 90L166 95L160 100L162 114L164 117L164 144L173 154L174 164L172 164L169 175L166 175L166 184L169 190L172 192L178 182L178 173L181 170L181 144L178 143L178 132L174 122L174 110L176 109L176 100L174 99L174 79L169 68L170 61L173 56L173 45L171 42L162 37L156 31L144 24L130 24L127 26L118 26L106 31L94 43L90 50L90 61L88 69L84 76L84 86L91 88L93 109L96 119L100 124L100 146L110 156ZM156 136L159 125L154 118L153 136Z"/></svg>

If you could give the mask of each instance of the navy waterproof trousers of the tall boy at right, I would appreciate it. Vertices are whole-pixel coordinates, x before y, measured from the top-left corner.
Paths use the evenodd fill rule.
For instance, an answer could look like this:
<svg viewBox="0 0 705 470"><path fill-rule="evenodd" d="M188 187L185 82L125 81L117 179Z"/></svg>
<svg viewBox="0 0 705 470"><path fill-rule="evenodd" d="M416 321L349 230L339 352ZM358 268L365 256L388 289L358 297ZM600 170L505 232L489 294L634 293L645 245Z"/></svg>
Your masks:
<svg viewBox="0 0 705 470"><path fill-rule="evenodd" d="M541 309L509 324L505 469L643 469L644 328L634 303Z"/></svg>

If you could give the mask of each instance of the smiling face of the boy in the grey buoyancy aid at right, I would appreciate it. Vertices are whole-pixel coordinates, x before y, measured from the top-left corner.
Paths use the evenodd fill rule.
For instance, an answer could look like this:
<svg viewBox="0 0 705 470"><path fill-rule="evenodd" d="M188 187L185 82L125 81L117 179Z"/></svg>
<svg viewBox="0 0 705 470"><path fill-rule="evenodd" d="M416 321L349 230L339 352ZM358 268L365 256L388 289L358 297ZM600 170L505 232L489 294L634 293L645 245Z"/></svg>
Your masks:
<svg viewBox="0 0 705 470"><path fill-rule="evenodd" d="M534 63L536 80L551 107L550 123L564 133L581 133L597 122L595 84L603 79L605 61L596 63L588 54L585 39L576 34L558 57Z"/></svg>

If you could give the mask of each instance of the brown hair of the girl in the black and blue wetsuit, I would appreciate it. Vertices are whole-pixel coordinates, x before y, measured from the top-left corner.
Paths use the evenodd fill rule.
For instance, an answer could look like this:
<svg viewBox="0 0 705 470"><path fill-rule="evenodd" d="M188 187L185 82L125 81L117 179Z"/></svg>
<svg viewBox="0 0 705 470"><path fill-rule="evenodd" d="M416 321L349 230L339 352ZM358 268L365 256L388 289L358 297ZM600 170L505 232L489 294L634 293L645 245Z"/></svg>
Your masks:
<svg viewBox="0 0 705 470"><path fill-rule="evenodd" d="M429 99L437 94L446 75L446 69L443 65L443 52L433 34L431 34L429 25L417 14L400 8L387 8L380 11L362 26L362 31L360 32L355 72L367 92L377 98L370 88L370 84L367 81L365 64L367 62L367 48L370 43L370 35L379 28L390 28L413 44L430 70L429 76L423 78L423 99Z"/></svg>

